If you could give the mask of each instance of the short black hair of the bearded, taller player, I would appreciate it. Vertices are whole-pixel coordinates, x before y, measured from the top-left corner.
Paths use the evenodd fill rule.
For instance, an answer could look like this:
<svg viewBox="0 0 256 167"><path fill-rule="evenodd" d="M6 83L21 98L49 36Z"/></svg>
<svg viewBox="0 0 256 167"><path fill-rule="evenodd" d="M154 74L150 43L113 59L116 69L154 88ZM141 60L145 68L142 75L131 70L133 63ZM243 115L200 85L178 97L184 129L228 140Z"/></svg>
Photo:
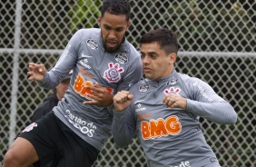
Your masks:
<svg viewBox="0 0 256 167"><path fill-rule="evenodd" d="M113 15L126 15L126 20L129 21L131 15L129 0L103 0L102 17L105 12Z"/></svg>

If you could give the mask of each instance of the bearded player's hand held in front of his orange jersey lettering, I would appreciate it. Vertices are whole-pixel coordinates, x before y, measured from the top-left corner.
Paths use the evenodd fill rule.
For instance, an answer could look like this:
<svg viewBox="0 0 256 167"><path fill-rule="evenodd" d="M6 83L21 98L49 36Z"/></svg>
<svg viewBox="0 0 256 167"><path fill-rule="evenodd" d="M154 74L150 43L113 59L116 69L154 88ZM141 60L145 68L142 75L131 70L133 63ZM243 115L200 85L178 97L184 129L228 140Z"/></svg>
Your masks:
<svg viewBox="0 0 256 167"><path fill-rule="evenodd" d="M109 106L113 103L113 94L110 93L106 87L101 86L99 83L95 83L94 86L86 86L90 89L92 94L88 93L87 96L92 101L85 101L86 104L97 104L101 106Z"/></svg>

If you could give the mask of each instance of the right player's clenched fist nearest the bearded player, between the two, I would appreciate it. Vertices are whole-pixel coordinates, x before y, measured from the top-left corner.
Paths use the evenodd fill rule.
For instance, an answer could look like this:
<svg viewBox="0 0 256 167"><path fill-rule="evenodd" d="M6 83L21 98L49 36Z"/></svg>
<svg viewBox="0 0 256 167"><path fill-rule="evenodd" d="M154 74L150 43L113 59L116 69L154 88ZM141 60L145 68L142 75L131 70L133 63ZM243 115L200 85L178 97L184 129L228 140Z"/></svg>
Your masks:
<svg viewBox="0 0 256 167"><path fill-rule="evenodd" d="M121 91L113 96L113 105L115 112L123 112L133 101L133 94L128 91Z"/></svg>

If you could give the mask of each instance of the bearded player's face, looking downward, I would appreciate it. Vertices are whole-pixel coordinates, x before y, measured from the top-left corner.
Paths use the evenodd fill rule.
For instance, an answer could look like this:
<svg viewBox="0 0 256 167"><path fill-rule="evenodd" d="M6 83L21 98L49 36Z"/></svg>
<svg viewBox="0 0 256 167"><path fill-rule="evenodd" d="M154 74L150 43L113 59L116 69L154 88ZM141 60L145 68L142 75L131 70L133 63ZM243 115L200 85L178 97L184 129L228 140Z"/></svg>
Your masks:
<svg viewBox="0 0 256 167"><path fill-rule="evenodd" d="M126 21L126 15L112 15L105 12L103 17L98 18L101 28L104 49L108 53L116 52L123 43L123 36L131 22Z"/></svg>

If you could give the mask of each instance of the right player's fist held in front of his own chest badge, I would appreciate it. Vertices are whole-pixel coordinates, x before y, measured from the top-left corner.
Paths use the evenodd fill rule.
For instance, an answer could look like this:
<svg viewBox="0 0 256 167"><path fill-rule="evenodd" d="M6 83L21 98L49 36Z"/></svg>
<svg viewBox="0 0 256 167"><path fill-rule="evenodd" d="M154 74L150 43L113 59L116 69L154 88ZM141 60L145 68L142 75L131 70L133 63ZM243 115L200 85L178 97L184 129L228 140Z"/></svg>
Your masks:
<svg viewBox="0 0 256 167"><path fill-rule="evenodd" d="M164 103L166 107L170 108L187 108L187 99L175 93L165 94L162 99L162 103Z"/></svg>

